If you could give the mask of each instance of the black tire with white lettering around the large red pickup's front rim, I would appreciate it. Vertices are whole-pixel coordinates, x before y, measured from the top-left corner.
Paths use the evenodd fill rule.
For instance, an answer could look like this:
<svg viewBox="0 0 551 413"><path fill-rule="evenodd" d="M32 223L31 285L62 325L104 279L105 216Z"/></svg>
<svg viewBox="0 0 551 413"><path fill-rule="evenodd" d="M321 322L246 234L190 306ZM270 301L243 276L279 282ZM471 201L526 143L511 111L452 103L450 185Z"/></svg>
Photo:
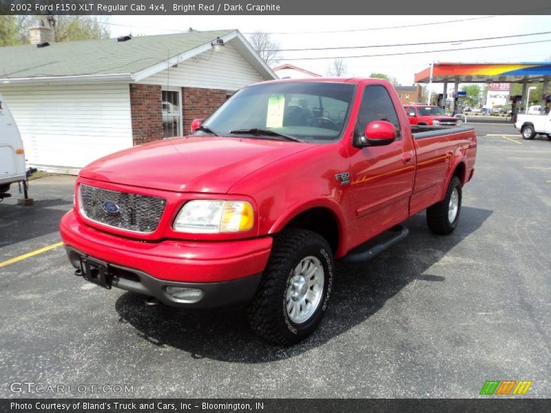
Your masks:
<svg viewBox="0 0 551 413"><path fill-rule="evenodd" d="M295 267L307 257L316 257L319 260L324 282L317 307L308 319L297 324L288 314L287 290L291 278L295 276ZM266 270L262 274L256 295L247 308L251 328L263 339L280 346L290 346L310 335L325 314L333 288L334 271L331 247L318 233L289 229L275 235Z"/></svg>

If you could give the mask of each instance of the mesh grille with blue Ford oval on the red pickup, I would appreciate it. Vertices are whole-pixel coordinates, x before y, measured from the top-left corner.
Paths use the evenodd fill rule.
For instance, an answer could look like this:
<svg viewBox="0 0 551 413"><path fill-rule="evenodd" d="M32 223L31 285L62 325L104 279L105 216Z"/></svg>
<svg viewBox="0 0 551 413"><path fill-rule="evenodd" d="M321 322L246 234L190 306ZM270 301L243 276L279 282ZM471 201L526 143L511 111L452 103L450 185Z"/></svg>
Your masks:
<svg viewBox="0 0 551 413"><path fill-rule="evenodd" d="M155 231L166 204L156 196L79 185L79 206L86 218L127 231ZM116 211L107 212L109 209Z"/></svg>

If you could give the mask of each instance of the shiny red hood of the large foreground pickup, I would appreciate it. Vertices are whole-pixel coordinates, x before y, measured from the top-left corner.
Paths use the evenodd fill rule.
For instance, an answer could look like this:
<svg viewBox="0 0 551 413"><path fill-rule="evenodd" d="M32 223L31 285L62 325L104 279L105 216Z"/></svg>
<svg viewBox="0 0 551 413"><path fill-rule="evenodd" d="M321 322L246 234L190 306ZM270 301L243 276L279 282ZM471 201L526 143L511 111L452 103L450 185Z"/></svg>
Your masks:
<svg viewBox="0 0 551 413"><path fill-rule="evenodd" d="M227 193L249 173L315 145L190 136L160 140L92 162L84 178L176 192Z"/></svg>

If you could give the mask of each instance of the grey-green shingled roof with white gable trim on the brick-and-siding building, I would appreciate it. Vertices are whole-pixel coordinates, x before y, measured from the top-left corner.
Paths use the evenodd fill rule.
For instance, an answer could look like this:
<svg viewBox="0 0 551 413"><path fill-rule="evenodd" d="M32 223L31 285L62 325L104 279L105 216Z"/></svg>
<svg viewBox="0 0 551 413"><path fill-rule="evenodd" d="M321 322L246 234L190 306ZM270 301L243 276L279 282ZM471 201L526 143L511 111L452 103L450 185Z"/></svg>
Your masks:
<svg viewBox="0 0 551 413"><path fill-rule="evenodd" d="M165 70L168 64L178 64L211 49L217 37L231 42L264 78L277 77L238 30L216 30L136 36L122 42L100 39L52 43L47 47L0 47L0 82L28 83L55 78L63 81L101 78L139 81Z"/></svg>

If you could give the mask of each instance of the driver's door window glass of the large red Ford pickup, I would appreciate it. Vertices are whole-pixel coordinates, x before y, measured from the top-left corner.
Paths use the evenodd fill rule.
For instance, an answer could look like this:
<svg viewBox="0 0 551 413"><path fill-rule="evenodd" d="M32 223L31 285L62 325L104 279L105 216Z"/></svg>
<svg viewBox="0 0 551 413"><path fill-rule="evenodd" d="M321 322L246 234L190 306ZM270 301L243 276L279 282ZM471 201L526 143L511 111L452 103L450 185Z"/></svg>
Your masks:
<svg viewBox="0 0 551 413"><path fill-rule="evenodd" d="M373 120L386 120L396 128L397 140L400 135L400 123L391 96L384 86L373 85L364 89L360 114L357 116L355 132L363 135L368 123Z"/></svg>

